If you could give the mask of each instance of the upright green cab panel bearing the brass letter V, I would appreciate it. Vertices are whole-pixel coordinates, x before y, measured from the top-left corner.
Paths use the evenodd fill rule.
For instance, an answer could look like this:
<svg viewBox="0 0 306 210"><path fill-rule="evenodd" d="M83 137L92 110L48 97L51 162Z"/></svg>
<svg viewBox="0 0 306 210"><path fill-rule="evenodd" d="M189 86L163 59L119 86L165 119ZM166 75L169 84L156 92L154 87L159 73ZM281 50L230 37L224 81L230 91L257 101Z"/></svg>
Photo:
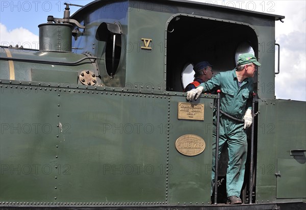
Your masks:
<svg viewBox="0 0 306 210"><path fill-rule="evenodd" d="M129 36L127 36L126 49L126 83L132 88L138 86L148 86L160 89L161 93L165 89L165 30L166 21L171 14L162 10L150 8L160 8L155 3L131 4L136 8L129 8ZM149 8L150 12L148 13ZM141 40L152 39L149 44L151 49L142 49L144 42ZM148 74L150 76L148 76Z"/></svg>

